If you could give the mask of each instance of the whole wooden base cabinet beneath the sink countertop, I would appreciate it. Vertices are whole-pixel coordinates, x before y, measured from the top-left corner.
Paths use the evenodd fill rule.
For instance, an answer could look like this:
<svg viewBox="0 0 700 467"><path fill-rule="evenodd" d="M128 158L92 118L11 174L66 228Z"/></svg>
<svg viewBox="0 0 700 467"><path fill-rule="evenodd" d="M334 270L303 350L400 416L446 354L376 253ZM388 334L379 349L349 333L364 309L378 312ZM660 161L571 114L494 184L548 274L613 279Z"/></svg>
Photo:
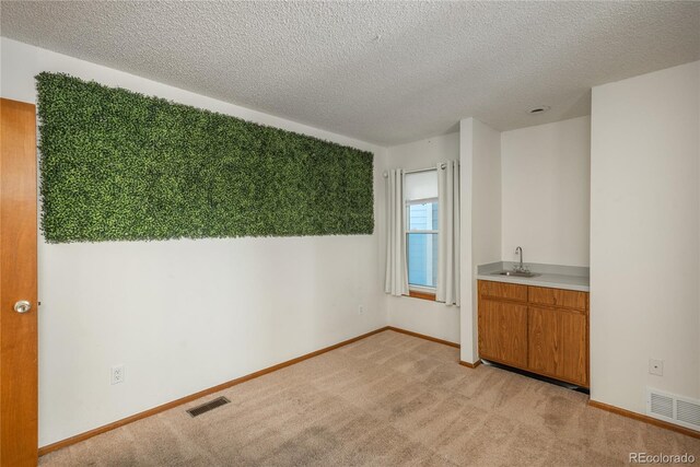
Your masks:
<svg viewBox="0 0 700 467"><path fill-rule="evenodd" d="M479 281L479 355L588 387L588 294Z"/></svg>

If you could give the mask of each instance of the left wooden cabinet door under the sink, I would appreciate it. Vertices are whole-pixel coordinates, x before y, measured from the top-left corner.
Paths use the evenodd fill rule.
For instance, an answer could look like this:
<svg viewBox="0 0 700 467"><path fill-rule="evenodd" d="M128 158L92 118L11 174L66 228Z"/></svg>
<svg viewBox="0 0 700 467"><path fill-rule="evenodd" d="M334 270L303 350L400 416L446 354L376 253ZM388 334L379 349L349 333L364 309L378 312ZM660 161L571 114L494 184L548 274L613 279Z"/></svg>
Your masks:
<svg viewBox="0 0 700 467"><path fill-rule="evenodd" d="M479 357L527 366L527 306L479 300Z"/></svg>

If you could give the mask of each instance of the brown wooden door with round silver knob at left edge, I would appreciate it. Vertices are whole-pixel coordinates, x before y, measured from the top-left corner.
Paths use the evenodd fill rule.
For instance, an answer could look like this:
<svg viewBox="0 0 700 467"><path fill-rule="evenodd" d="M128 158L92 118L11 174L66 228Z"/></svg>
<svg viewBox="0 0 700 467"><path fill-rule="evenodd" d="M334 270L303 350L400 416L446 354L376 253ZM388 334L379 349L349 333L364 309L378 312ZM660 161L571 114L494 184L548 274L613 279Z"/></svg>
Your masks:
<svg viewBox="0 0 700 467"><path fill-rule="evenodd" d="M38 447L34 105L2 98L0 119L0 466L23 467Z"/></svg>

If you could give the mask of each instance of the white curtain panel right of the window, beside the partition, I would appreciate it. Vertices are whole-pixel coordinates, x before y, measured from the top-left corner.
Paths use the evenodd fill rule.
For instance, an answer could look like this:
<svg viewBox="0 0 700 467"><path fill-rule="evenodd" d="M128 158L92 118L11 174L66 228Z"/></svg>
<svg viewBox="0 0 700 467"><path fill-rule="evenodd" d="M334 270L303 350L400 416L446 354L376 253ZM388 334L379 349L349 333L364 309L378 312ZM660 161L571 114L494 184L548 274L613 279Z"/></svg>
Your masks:
<svg viewBox="0 0 700 467"><path fill-rule="evenodd" d="M438 291L435 300L459 306L459 162L438 164Z"/></svg>

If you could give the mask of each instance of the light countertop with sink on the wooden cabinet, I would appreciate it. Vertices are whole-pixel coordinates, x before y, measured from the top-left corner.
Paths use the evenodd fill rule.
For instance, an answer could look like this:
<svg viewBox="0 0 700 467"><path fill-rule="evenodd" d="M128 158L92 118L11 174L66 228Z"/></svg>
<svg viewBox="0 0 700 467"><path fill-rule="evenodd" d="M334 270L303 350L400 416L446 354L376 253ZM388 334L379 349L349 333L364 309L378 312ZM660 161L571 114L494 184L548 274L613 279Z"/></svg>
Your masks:
<svg viewBox="0 0 700 467"><path fill-rule="evenodd" d="M581 292L588 292L591 290L590 269L584 267L526 262L525 266L527 266L532 272L540 276L523 278L493 273L503 270L512 270L513 265L515 265L515 262L511 261L481 265L477 268L477 279L493 282L517 283L523 285L548 287L552 289L578 290Z"/></svg>

